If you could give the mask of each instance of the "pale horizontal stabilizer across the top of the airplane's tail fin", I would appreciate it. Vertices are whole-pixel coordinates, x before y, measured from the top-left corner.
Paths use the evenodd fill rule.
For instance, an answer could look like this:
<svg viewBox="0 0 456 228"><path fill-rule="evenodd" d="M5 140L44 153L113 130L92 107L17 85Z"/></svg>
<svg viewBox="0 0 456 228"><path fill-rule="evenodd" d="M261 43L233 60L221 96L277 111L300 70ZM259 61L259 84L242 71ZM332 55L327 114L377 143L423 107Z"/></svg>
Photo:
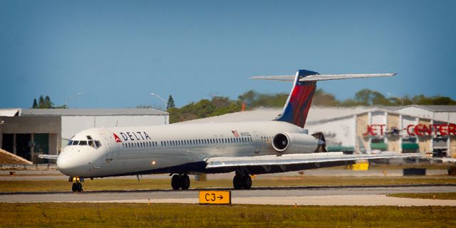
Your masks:
<svg viewBox="0 0 456 228"><path fill-rule="evenodd" d="M371 73L371 74L314 74L300 78L299 81L327 81L336 79L350 78L376 78L376 77L391 77L396 73ZM275 80L275 81L294 81L296 76L252 76L251 79Z"/></svg>

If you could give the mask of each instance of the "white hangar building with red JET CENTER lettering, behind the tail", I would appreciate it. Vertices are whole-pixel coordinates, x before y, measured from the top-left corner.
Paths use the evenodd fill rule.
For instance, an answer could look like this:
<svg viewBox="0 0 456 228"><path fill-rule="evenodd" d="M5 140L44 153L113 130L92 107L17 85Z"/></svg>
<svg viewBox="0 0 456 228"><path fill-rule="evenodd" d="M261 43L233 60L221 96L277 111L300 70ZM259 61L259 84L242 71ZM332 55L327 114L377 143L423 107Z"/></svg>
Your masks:
<svg viewBox="0 0 456 228"><path fill-rule="evenodd" d="M194 123L272 120L281 108L263 108ZM388 150L456 157L456 105L329 108L313 106L305 128L323 132L330 151Z"/></svg>

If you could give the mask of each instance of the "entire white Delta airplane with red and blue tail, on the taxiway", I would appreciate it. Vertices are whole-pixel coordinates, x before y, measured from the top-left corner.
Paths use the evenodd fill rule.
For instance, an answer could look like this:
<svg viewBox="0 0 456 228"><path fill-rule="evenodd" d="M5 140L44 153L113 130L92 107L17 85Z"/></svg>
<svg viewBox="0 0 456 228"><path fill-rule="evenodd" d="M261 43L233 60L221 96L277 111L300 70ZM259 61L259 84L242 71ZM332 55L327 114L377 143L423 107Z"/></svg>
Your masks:
<svg viewBox="0 0 456 228"><path fill-rule="evenodd" d="M239 123L183 123L123 128L91 128L74 135L56 159L60 172L83 191L85 178L170 174L173 190L190 187L188 175L234 172L235 190L249 190L251 175L351 165L356 160L418 157L420 154L344 155L326 152L323 133L304 129L316 81L395 76L395 73L294 76L253 79L293 81L282 113L274 120ZM139 179L139 176L138 176Z"/></svg>

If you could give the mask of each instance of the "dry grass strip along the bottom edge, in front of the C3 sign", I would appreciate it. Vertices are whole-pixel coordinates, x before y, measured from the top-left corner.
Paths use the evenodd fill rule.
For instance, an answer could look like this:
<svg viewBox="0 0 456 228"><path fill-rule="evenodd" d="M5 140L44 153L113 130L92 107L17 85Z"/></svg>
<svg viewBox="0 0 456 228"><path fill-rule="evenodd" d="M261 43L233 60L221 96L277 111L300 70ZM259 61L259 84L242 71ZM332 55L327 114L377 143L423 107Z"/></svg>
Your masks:
<svg viewBox="0 0 456 228"><path fill-rule="evenodd" d="M456 207L0 204L0 227L455 227Z"/></svg>

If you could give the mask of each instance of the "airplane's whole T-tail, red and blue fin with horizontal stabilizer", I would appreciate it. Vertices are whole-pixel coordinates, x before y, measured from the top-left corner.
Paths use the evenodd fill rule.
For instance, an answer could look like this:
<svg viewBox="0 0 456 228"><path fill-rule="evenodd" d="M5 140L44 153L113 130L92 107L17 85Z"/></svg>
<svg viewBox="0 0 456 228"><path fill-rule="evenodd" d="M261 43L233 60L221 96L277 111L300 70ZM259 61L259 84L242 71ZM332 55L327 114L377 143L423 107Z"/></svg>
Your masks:
<svg viewBox="0 0 456 228"><path fill-rule="evenodd" d="M299 70L296 72L296 76L254 76L251 78L294 81L293 89L291 89L288 100L286 100L284 110L282 110L282 113L275 120L292 123L304 128L309 109L311 108L312 98L314 98L316 81L348 78L375 78L395 75L395 73L320 75L314 71Z"/></svg>

